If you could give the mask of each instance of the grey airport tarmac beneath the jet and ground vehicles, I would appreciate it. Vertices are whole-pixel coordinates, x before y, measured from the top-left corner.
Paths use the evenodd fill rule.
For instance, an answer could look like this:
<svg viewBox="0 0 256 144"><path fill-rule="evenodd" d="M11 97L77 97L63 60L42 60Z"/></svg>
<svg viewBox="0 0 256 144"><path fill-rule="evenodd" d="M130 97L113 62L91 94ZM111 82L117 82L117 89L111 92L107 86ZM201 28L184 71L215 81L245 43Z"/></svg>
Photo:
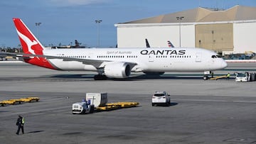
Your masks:
<svg viewBox="0 0 256 144"><path fill-rule="evenodd" d="M215 74L256 72L256 63L230 63ZM24 63L0 63L0 101L28 96L39 102L0 107L0 143L256 143L256 82L203 80L203 73L132 73L95 81L94 72L62 72ZM170 106L151 106L155 91ZM73 115L87 92L107 92L109 103L139 106ZM25 134L16 135L18 115Z"/></svg>

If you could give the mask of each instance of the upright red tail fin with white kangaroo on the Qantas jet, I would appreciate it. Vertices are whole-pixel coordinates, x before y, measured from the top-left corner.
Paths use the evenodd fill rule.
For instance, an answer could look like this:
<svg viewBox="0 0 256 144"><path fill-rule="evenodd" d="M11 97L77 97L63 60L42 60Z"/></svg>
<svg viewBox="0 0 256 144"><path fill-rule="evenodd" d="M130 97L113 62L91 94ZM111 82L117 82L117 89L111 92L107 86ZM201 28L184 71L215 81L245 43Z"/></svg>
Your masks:
<svg viewBox="0 0 256 144"><path fill-rule="evenodd" d="M21 21L20 18L13 18L18 38L21 41L23 52L26 54L43 55L43 45L39 42L28 27Z"/></svg>

